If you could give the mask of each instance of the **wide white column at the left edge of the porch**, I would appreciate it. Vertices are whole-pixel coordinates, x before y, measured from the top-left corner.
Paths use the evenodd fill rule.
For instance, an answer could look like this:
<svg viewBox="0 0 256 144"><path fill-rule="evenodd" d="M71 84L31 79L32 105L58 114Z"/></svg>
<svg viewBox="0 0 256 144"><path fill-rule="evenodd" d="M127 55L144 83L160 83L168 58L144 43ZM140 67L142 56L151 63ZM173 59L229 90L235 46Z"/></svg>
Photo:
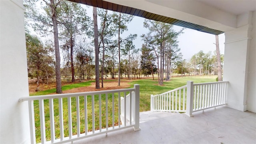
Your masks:
<svg viewBox="0 0 256 144"><path fill-rule="evenodd" d="M30 143L28 72L22 0L0 1L0 143Z"/></svg>

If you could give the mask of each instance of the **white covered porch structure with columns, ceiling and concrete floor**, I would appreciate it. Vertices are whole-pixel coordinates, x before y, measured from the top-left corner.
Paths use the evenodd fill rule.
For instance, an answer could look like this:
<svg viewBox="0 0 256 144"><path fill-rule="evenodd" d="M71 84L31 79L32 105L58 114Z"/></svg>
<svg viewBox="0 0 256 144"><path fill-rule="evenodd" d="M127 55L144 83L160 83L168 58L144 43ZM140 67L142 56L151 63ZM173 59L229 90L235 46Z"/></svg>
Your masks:
<svg viewBox="0 0 256 144"><path fill-rule="evenodd" d="M147 122L140 120L139 131L127 128L110 132L107 137L101 134L76 143L256 143L256 115L252 113L256 112L254 0L104 2L136 8L137 12L145 10L158 14L156 18L159 19L166 16L189 22L207 30L210 28L209 32L225 32L223 79L229 81L227 106L194 112L194 117L175 114ZM24 10L22 0L0 1L0 143L3 144L33 143L30 140L28 103L18 102L19 98L29 96ZM140 116L142 118L142 113Z"/></svg>

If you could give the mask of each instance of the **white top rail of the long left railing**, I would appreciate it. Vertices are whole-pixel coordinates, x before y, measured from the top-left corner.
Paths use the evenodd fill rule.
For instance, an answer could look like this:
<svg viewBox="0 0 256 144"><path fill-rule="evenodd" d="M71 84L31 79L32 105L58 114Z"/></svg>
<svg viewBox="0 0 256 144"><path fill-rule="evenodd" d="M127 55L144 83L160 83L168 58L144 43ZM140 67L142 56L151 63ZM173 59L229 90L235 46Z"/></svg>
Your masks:
<svg viewBox="0 0 256 144"><path fill-rule="evenodd" d="M43 99L50 99L50 98L68 98L74 96L88 96L88 95L97 95L97 94L109 94L109 93L116 93L116 92L127 92L127 91L134 91L135 88L124 88L118 90L102 90L102 91L94 91L94 92L77 92L77 93L69 93L69 94L50 94L50 95L43 95L43 96L26 96L19 99L19 102L28 101L28 100L43 100Z"/></svg>

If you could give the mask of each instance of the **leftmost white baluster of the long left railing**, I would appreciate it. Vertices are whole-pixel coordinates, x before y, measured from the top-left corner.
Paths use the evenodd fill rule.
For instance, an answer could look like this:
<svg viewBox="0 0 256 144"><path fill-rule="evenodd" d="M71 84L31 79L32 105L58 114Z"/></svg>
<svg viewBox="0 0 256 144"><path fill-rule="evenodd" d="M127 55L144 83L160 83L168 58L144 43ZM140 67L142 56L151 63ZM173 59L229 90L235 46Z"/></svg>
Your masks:
<svg viewBox="0 0 256 144"><path fill-rule="evenodd" d="M31 144L36 143L36 128L35 128L35 115L34 115L34 100L28 101L29 110L29 124L30 124L30 142Z"/></svg>

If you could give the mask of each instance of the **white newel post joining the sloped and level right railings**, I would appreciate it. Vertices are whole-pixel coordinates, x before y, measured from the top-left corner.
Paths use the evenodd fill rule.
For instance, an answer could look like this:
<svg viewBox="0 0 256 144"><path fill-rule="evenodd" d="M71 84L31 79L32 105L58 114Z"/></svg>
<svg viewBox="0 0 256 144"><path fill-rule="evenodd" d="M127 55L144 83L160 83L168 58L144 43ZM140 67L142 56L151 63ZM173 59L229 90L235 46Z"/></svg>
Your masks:
<svg viewBox="0 0 256 144"><path fill-rule="evenodd" d="M193 110L193 94L194 94L194 84L193 81L187 82L187 106L186 106L186 115L189 117L192 116Z"/></svg>

